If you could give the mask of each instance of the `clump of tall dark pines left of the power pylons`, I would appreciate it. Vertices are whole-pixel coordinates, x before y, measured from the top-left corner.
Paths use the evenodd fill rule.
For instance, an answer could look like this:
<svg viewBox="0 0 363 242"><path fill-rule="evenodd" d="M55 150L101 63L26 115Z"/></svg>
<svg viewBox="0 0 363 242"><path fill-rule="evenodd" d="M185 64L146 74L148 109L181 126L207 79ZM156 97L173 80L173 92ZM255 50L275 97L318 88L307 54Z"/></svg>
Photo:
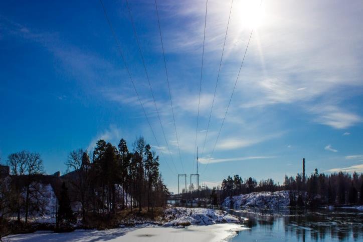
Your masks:
<svg viewBox="0 0 363 242"><path fill-rule="evenodd" d="M91 159L90 159L91 157ZM72 196L80 203L82 217L89 212L110 219L117 210L164 206L169 191L159 172L159 157L143 137L129 151L121 139L116 146L98 140L92 153L72 151L66 161Z"/></svg>

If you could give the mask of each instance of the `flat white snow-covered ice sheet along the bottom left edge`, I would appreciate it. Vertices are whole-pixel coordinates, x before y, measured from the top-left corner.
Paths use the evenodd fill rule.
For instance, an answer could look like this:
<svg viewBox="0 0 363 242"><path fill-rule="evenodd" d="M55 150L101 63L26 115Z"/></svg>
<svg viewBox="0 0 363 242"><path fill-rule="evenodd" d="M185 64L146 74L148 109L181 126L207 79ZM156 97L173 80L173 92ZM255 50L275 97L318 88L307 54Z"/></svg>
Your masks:
<svg viewBox="0 0 363 242"><path fill-rule="evenodd" d="M238 224L192 225L184 228L136 226L108 230L76 230L69 233L35 232L14 234L6 241L227 241L236 231L246 229Z"/></svg>

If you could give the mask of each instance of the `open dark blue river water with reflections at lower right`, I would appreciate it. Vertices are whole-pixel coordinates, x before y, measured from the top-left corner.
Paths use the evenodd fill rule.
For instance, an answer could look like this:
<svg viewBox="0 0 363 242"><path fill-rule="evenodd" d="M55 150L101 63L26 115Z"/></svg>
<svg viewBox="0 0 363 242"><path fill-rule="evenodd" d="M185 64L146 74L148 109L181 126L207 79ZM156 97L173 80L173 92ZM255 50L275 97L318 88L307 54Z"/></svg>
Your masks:
<svg viewBox="0 0 363 242"><path fill-rule="evenodd" d="M356 209L273 208L229 210L249 218L232 241L363 240L363 212Z"/></svg>

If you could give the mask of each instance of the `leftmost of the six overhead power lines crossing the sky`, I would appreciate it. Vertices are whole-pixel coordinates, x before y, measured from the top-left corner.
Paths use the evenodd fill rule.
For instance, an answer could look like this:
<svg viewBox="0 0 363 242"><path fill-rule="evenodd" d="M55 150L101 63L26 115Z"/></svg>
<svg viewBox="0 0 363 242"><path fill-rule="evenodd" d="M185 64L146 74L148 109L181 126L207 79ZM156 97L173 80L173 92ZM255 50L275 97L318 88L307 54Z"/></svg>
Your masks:
<svg viewBox="0 0 363 242"><path fill-rule="evenodd" d="M123 62L123 64L124 64L124 66L125 66L125 69L126 69L126 71L127 71L127 74L128 74L128 76L129 76L129 78L130 78L130 81L131 81L131 83L132 83L133 89L135 90L135 93L136 93L137 99L138 99L138 101L139 101L139 103L140 103L140 106L141 106L141 108L142 108L142 111L143 111L143 113L144 113L144 115L145 115L146 121L147 121L147 123L148 123L148 125L149 125L149 127L150 127L150 130L151 130L151 132L152 132L152 135L154 136L154 139L155 139L155 141L156 141L157 146L158 146L158 147L160 147L159 142L158 142L158 141L157 141L157 139L156 139L156 136L155 136L154 130L152 129L151 124L150 124L150 121L149 121L149 119L148 119L148 117L147 117L147 115L146 115L145 108L144 108L144 106L142 105L142 102L141 102L140 96L139 96L139 94L138 94L138 92L137 92L137 90L136 90L135 83L134 83L134 81L133 81L133 79L132 79L132 77L131 77L131 73L130 73L130 71L129 71L129 69L128 69L128 66L127 66L127 64L126 64L126 60L125 60L125 58L124 58L124 56L123 56L123 54L122 54L121 47L120 47L120 43L119 43L119 41L118 41L118 39L117 39L116 33L115 33L114 29L113 29L113 26L112 26L112 24L111 24L110 19L108 18L108 15L107 15L107 12L106 12L106 8L105 8L105 6L104 6L104 4L103 4L103 1L102 1L102 0L100 0L100 3L101 3L101 5L102 5L103 13L104 13L104 15L105 15L105 17L106 17L107 23L108 23L108 25L109 25L109 27L110 27L110 30L111 30L111 32L112 32L112 36L113 36L113 38L115 39L115 42L116 42L116 45L117 45L117 49L118 49L118 51L119 51L119 53L120 53L120 56L121 56L121 58L122 58L122 62ZM162 152L161 152L161 155L163 156L163 158L164 158L164 160L165 160L165 164L167 165L167 167L169 168L169 170L170 170L173 174L175 174L175 173L171 170L171 168L170 168L169 164L167 163L167 160L165 159L165 157L164 157L164 155L163 155L163 153L162 153ZM174 164L174 167L175 167L175 164ZM175 170L176 170L176 168L175 168Z"/></svg>

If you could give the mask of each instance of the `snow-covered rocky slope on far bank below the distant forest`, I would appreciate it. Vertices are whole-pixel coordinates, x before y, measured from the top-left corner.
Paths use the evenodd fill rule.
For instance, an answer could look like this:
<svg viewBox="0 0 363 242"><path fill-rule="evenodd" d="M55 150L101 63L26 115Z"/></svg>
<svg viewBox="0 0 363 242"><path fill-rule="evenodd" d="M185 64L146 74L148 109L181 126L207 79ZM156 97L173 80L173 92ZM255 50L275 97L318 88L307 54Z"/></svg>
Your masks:
<svg viewBox="0 0 363 242"><path fill-rule="evenodd" d="M288 206L290 204L289 191L252 192L227 197L222 206L239 208L241 206L272 207Z"/></svg>

